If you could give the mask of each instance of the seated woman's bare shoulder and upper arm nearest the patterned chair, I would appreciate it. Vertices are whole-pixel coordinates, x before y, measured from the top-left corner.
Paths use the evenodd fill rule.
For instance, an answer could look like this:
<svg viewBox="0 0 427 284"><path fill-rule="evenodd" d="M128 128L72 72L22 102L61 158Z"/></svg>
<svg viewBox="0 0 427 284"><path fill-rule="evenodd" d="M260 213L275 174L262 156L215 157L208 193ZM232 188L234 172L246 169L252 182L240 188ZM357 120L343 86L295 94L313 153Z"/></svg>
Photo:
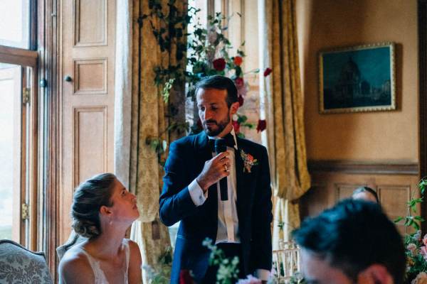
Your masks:
<svg viewBox="0 0 427 284"><path fill-rule="evenodd" d="M93 283L95 276L85 254L75 248L60 260L58 272L63 283Z"/></svg>

